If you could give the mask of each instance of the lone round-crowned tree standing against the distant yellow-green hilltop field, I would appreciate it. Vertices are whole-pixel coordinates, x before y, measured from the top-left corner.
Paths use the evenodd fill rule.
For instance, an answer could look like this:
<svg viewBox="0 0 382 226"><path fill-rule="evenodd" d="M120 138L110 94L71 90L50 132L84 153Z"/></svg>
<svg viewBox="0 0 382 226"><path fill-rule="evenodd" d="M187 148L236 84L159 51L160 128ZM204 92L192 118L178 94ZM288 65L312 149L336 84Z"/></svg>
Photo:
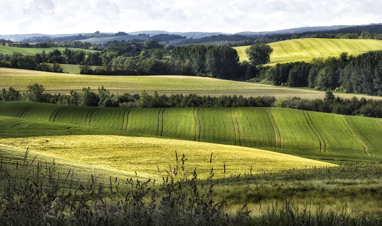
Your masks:
<svg viewBox="0 0 382 226"><path fill-rule="evenodd" d="M264 43L254 43L245 50L249 61L254 65L269 63L273 48Z"/></svg>

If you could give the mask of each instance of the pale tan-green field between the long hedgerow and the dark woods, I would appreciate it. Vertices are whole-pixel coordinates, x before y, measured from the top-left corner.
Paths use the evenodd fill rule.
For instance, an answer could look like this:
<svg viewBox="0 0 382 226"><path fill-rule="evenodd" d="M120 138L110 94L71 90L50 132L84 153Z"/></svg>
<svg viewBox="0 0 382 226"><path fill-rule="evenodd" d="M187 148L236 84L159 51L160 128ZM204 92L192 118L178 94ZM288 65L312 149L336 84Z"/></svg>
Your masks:
<svg viewBox="0 0 382 226"><path fill-rule="evenodd" d="M65 70L64 70L65 71ZM324 98L325 91L309 89L277 87L248 82L236 82L206 77L180 76L180 75L153 75L153 76L104 76L104 75L75 75L52 72L30 71L12 68L0 68L0 88L13 87L24 91L29 84L42 84L49 93L65 93L70 90L81 91L83 87L97 90L104 86L111 93L141 93L154 90L159 94L171 95L182 93L188 95L243 95L243 96L297 96L306 99ZM341 98L372 98L382 99L380 96L367 96L351 93L334 92Z"/></svg>

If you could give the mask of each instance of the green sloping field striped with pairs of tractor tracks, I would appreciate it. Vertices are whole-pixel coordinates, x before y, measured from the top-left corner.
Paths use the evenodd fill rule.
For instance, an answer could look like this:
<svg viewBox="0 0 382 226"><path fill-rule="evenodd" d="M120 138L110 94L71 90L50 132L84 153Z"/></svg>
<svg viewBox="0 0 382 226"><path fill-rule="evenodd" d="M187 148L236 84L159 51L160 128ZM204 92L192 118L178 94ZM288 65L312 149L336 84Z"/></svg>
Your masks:
<svg viewBox="0 0 382 226"><path fill-rule="evenodd" d="M1 101L0 115L254 147L312 159L372 161L382 156L381 119L295 109L126 109Z"/></svg>

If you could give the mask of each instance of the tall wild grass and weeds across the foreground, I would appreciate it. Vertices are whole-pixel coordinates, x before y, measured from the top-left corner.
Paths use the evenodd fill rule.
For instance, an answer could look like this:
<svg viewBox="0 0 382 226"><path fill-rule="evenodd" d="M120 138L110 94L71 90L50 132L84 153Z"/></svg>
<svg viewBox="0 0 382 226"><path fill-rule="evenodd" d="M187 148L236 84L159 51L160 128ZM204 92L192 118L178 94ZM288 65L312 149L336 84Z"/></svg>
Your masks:
<svg viewBox="0 0 382 226"><path fill-rule="evenodd" d="M210 162L213 159L211 154ZM340 208L316 207L315 199L301 204L298 195L304 192L304 184L293 189L288 185L284 185L285 189L278 185L267 189L261 184L262 180L275 184L282 180L301 183L309 178L329 183L333 182L330 176L341 181L339 175L352 180L374 169L375 172L364 175L372 181L382 168L380 162L256 175L224 174L219 179L214 179L211 167L207 181L198 180L196 169L187 172L186 162L185 155L176 154L176 165L162 172L160 182L110 176L109 183L104 184L97 181L97 175L91 175L88 183L81 184L72 171L63 174L54 160L49 164L29 157L28 150L24 159L15 164L1 158L0 222L2 225L382 225L380 216L368 211L350 211L346 202ZM235 186L241 187L239 192L246 191L242 196L256 193L257 197L253 197L258 200L247 197L240 201L240 208L231 211L228 203L235 202L233 192L220 195L219 189L235 189ZM339 190L339 193L343 191ZM288 196L285 191L293 192L296 197ZM305 192L309 192L306 187ZM360 195L354 190L343 193ZM319 192L316 199L325 195L327 192ZM278 198L269 201L272 196ZM377 198L376 203L379 201ZM260 207L255 210L248 202Z"/></svg>

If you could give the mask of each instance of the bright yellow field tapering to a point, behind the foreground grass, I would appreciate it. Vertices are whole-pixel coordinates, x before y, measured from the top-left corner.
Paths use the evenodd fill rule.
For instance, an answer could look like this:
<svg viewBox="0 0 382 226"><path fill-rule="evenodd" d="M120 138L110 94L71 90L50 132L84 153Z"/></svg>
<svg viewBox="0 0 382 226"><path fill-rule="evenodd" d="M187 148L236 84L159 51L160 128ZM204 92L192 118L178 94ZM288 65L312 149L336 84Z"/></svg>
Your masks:
<svg viewBox="0 0 382 226"><path fill-rule="evenodd" d="M175 152L178 154L178 168L180 169L181 157L185 154L187 158L185 169L191 174L196 167L200 179L207 179L210 176L211 167L214 169L214 178L223 177L223 164L226 165L226 176L250 173L251 167L252 173L258 173L262 170L269 172L335 166L259 149L163 138L107 135L45 136L0 139L0 144L19 148L24 152L29 146L29 150L37 154L37 158L55 159L57 163L70 162L84 169L91 167L95 171L105 170L105 172L92 172L93 174L110 175L110 172L113 172L113 175L135 177L136 172L141 178L161 178L167 175L165 170L169 171L170 166L176 167ZM212 152L212 163L210 163Z"/></svg>

